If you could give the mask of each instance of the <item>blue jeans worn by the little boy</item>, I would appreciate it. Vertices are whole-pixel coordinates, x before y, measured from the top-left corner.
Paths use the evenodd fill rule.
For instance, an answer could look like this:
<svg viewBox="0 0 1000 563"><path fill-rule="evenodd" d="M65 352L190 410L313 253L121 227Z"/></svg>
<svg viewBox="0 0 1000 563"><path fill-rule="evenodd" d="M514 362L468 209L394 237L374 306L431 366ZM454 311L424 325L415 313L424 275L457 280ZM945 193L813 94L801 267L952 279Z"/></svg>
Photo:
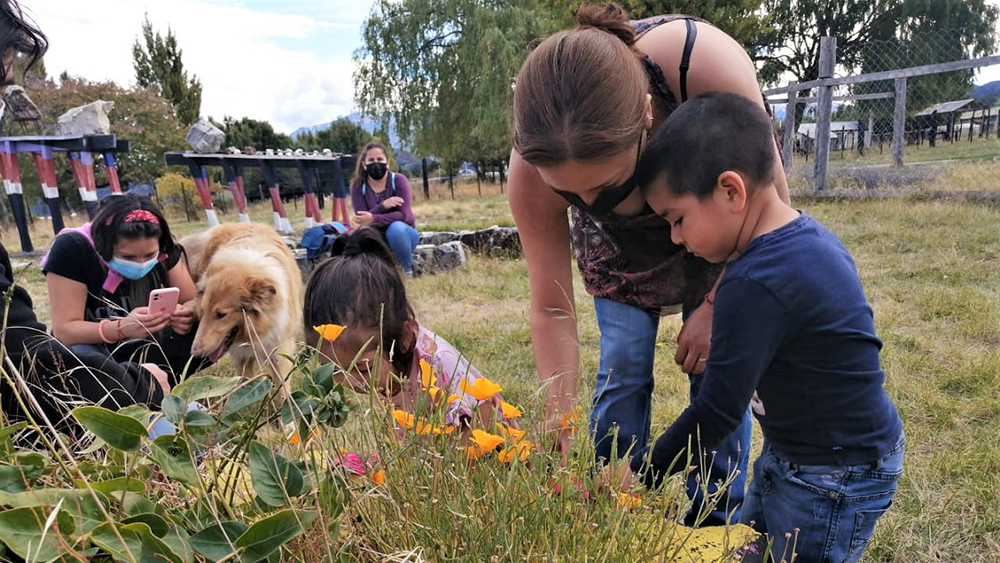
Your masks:
<svg viewBox="0 0 1000 563"><path fill-rule="evenodd" d="M775 561L791 560L792 547L785 541L789 533L796 563L857 562L875 521L892 506L905 444L900 435L889 453L864 465L796 465L779 457L765 440L740 521L753 521L758 531L770 535Z"/></svg>

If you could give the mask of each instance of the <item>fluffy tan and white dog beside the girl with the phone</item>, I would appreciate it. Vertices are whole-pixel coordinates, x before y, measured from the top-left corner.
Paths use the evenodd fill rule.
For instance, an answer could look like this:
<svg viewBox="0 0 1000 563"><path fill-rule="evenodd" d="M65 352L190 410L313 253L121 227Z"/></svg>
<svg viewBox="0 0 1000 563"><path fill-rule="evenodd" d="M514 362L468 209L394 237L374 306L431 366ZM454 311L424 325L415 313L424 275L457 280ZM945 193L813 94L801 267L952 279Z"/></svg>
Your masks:
<svg viewBox="0 0 1000 563"><path fill-rule="evenodd" d="M302 275L292 251L273 228L255 223L219 225L180 242L198 286L191 353L217 361L228 350L245 377L264 366L287 398L290 363L282 354L294 352L302 326Z"/></svg>

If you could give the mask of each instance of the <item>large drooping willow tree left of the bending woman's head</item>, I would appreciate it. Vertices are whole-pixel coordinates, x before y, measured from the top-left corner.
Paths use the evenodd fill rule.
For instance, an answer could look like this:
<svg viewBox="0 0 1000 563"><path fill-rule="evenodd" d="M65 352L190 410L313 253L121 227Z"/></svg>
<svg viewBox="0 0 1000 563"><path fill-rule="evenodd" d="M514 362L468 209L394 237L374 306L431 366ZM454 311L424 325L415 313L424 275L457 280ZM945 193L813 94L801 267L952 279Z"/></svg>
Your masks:
<svg viewBox="0 0 1000 563"><path fill-rule="evenodd" d="M530 0L377 0L355 52L355 99L406 146L444 160L509 151L513 83L551 10Z"/></svg>

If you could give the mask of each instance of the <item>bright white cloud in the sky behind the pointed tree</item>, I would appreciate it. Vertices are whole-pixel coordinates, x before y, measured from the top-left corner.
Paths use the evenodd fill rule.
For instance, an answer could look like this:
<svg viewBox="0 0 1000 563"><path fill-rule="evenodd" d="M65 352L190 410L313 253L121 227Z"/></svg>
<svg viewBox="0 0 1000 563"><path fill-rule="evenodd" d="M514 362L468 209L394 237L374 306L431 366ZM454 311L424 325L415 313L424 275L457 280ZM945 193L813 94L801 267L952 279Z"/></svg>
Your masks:
<svg viewBox="0 0 1000 563"><path fill-rule="evenodd" d="M331 4L324 3L324 15L338 9ZM325 53L322 47L330 36L348 46L360 43L364 12L352 4L347 18L320 18L282 13L281 2L267 8L225 0L23 2L49 37L45 64L52 75L66 70L134 84L132 44L148 13L154 29L170 26L185 68L201 80L202 115L263 119L284 132L352 110L353 49Z"/></svg>

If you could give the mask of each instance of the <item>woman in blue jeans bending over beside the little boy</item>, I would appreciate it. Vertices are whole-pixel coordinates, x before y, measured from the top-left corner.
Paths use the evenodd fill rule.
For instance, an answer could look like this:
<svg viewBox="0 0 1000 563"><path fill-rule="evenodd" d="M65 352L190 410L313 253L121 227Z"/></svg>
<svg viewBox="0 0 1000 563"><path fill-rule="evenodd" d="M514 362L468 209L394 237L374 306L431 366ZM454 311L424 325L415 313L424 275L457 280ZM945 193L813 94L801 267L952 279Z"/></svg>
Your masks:
<svg viewBox="0 0 1000 563"><path fill-rule="evenodd" d="M543 429L568 451L562 420L575 409L580 361L572 247L601 330L591 433L596 456L611 461L649 440L661 315L683 313L674 361L690 374L692 396L697 392L720 273L671 244L670 225L635 189L639 155L688 97L725 91L763 106L763 96L753 63L724 32L682 15L630 21L616 4L581 8L574 28L528 56L516 84L508 193L528 264L535 362L547 385ZM780 163L775 178L787 201ZM724 522L742 503L751 426L747 414L709 454L710 488L739 470L709 523ZM700 489L689 482L693 512L701 508Z"/></svg>

